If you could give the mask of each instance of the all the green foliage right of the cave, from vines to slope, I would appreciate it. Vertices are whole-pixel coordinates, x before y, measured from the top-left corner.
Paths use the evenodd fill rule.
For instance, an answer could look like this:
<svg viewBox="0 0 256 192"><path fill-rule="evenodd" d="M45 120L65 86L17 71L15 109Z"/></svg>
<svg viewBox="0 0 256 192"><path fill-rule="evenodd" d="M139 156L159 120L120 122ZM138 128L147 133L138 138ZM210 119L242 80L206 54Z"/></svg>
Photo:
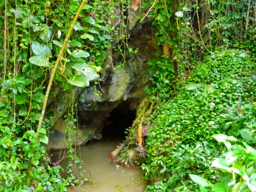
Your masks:
<svg viewBox="0 0 256 192"><path fill-rule="evenodd" d="M145 140L146 191L255 191L255 2L150 5L163 51L148 61L156 72L146 92L157 104ZM242 143L229 143L236 138Z"/></svg>

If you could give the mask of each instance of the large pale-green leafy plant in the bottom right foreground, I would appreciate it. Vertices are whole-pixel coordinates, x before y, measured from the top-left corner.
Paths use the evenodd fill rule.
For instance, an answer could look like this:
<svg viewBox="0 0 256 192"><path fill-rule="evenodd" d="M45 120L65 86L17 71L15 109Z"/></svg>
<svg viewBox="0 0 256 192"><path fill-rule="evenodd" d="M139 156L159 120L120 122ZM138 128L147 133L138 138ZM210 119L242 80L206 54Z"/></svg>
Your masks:
<svg viewBox="0 0 256 192"><path fill-rule="evenodd" d="M212 137L223 142L227 151L223 153L225 158L215 158L211 166L220 168L226 176L220 178L220 182L211 184L201 176L189 174L192 181L199 185L200 191L256 191L256 150L233 136L215 134ZM235 143L231 144L230 141Z"/></svg>

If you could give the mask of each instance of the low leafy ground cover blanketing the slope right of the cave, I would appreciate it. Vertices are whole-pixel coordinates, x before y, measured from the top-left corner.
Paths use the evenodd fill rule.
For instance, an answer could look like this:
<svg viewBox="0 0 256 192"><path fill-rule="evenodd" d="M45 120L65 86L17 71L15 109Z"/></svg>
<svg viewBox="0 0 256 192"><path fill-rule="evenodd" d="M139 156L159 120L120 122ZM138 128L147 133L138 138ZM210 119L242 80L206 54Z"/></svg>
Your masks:
<svg viewBox="0 0 256 192"><path fill-rule="evenodd" d="M228 151L212 137L214 134L234 136L255 147L253 55L253 52L226 49L205 56L187 79L177 82L174 96L156 105L142 164L144 177L152 183L147 191L198 191L196 183L200 182L192 182L188 174L211 183L228 175L211 166L214 158L224 157L223 153ZM250 163L245 159L240 155L235 160L246 167L248 175L255 174L255 157L249 157ZM204 187L200 185L200 190L208 191ZM244 191L249 190L245 187Z"/></svg>

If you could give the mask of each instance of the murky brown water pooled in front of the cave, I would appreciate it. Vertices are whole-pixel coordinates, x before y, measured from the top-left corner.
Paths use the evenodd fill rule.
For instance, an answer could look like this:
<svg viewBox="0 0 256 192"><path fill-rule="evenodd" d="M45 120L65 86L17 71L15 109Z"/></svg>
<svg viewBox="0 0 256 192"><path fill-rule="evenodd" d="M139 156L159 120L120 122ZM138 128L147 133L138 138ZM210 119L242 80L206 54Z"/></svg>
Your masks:
<svg viewBox="0 0 256 192"><path fill-rule="evenodd" d="M92 191L92 192L140 192L144 191L145 184L138 168L126 168L112 164L109 154L120 141L109 139L90 142L86 146L80 147L81 160L84 162L82 173L89 181L83 185L71 186L69 191ZM78 154L77 153L77 154ZM64 163L64 164L63 164ZM65 161L61 161L65 167ZM85 166L86 165L86 166Z"/></svg>

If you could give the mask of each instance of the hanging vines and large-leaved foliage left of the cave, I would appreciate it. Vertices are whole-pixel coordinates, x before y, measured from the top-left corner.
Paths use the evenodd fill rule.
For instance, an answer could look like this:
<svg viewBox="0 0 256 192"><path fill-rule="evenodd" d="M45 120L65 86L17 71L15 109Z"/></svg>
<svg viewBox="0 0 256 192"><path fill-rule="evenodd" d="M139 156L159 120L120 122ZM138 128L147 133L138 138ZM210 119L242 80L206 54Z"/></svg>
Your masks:
<svg viewBox="0 0 256 192"><path fill-rule="evenodd" d="M89 86L89 81L97 84L97 72L111 65L110 49L120 48L126 36L121 31L125 0L86 2L76 19L80 4L78 0L0 1L0 191L65 191L74 182L74 177L60 177L60 167L53 166L47 154L54 105L66 100L62 114L69 131L68 157L78 163L69 136L77 124L73 89ZM102 66L105 58L109 63ZM53 88L47 92L51 74Z"/></svg>

